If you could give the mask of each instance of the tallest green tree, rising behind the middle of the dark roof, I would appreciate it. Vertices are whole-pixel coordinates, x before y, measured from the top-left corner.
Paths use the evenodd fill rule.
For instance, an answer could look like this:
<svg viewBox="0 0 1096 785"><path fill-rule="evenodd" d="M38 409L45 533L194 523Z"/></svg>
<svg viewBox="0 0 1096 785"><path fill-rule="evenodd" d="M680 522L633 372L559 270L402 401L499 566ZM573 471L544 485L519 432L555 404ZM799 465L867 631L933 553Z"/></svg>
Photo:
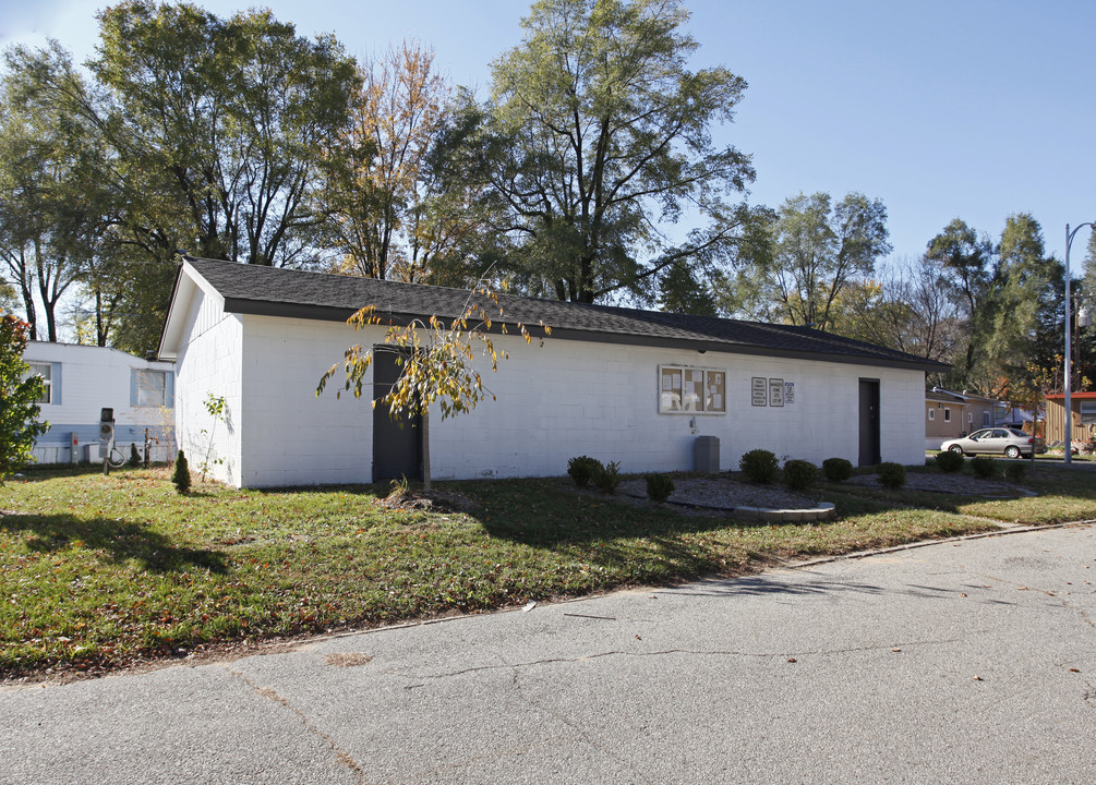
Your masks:
<svg viewBox="0 0 1096 785"><path fill-rule="evenodd" d="M670 276L724 270L754 212L738 203L750 157L712 140L746 88L690 70L680 0L538 0L523 42L492 66L490 100L466 105L468 177L494 208L499 269L534 295L647 302ZM688 214L699 228L674 239Z"/></svg>

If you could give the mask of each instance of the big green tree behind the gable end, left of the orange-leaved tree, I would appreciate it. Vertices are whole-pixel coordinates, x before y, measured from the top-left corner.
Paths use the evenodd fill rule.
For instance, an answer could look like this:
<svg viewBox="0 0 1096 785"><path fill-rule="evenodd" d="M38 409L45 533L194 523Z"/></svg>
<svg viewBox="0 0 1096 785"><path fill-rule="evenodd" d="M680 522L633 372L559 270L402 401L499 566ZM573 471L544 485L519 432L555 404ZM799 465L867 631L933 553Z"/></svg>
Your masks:
<svg viewBox="0 0 1096 785"><path fill-rule="evenodd" d="M339 43L298 36L266 10L225 20L147 0L106 9L100 24L90 66L109 91L122 175L142 173L135 196L164 197L151 212L127 205L137 234L158 236L173 223L160 212L178 211L189 236L171 239L193 253L298 261L322 219L322 153L356 80Z"/></svg>

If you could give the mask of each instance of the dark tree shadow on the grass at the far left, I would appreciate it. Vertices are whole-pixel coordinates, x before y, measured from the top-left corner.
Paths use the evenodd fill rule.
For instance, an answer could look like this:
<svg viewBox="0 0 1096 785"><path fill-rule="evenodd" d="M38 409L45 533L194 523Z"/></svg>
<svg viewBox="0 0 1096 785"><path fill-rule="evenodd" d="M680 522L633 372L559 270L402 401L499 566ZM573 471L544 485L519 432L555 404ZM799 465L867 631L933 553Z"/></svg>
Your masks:
<svg viewBox="0 0 1096 785"><path fill-rule="evenodd" d="M14 534L30 533L26 546L52 554L79 542L91 550L105 550L113 562L134 559L153 572L207 569L227 571L225 557L216 550L185 548L144 526L112 519L78 520L69 515L3 515L0 528Z"/></svg>

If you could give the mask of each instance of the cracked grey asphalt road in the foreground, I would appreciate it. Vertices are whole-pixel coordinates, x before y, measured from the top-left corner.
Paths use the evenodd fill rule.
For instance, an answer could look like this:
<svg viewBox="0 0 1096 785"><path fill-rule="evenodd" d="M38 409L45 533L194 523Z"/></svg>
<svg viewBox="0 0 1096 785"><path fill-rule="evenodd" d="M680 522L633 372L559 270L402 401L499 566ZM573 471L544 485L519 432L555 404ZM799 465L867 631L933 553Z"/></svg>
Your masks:
<svg viewBox="0 0 1096 785"><path fill-rule="evenodd" d="M1096 782L1077 526L0 690L0 783Z"/></svg>

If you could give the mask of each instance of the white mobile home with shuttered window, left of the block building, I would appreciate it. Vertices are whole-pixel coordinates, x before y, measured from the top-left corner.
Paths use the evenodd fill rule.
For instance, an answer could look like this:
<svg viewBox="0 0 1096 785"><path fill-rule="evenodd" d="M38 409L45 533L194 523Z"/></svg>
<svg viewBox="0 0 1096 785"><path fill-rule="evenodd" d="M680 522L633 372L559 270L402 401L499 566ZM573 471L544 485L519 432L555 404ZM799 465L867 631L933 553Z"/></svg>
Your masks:
<svg viewBox="0 0 1096 785"><path fill-rule="evenodd" d="M174 365L142 360L106 346L28 341L23 360L43 379L42 420L49 431L38 437L38 463L99 460L99 419L114 410L114 443L129 455L129 445L153 441L151 458L174 455Z"/></svg>

